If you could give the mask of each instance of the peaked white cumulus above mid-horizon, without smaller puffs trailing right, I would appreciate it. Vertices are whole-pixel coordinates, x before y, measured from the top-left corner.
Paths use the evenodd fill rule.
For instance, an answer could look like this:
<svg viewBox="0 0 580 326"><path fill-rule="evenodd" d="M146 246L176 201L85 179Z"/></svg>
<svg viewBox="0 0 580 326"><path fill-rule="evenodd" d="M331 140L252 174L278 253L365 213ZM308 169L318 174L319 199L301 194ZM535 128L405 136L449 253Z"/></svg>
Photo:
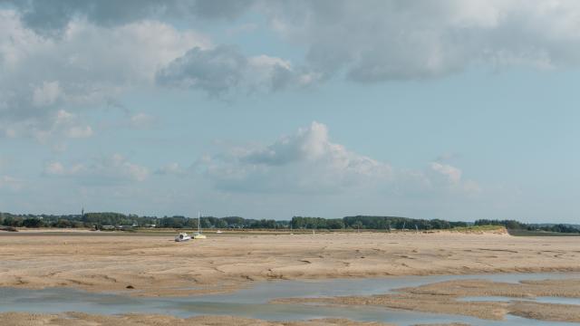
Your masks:
<svg viewBox="0 0 580 326"><path fill-rule="evenodd" d="M333 143L318 122L270 146L232 149L204 164L207 176L227 191L334 193L392 177L389 164Z"/></svg>

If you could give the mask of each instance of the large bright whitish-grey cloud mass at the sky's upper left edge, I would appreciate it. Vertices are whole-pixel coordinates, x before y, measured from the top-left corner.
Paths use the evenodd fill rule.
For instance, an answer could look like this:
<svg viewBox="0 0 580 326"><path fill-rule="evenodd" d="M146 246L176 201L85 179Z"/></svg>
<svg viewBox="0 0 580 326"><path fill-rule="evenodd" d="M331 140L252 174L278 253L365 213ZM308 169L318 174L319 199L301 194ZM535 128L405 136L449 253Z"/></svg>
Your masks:
<svg viewBox="0 0 580 326"><path fill-rule="evenodd" d="M116 27L67 21L59 38L34 33L21 13L0 10L0 129L30 134L52 129L55 112L108 103L146 87L155 72L208 39L149 20ZM89 136L85 127L72 137Z"/></svg>

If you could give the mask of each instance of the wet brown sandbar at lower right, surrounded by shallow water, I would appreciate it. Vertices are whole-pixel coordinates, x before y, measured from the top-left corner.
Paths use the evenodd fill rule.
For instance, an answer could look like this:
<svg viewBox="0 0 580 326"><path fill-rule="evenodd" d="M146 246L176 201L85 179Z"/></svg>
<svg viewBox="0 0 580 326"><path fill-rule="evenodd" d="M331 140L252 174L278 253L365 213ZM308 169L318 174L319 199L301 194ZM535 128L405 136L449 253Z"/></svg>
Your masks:
<svg viewBox="0 0 580 326"><path fill-rule="evenodd" d="M461 301L464 297L502 296L508 302ZM278 303L323 303L372 305L417 312L443 312L488 320L503 320L506 315L542 321L580 321L580 305L523 301L540 296L580 298L580 280L524 281L499 283L485 280L458 280L402 288L395 293L332 298L288 298Z"/></svg>

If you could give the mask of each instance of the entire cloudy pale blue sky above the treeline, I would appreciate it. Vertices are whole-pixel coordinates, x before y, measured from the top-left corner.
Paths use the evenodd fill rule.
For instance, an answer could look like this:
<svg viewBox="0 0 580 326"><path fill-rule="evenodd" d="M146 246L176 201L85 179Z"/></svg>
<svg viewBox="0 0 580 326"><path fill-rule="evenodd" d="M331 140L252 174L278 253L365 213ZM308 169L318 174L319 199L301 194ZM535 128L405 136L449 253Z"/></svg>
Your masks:
<svg viewBox="0 0 580 326"><path fill-rule="evenodd" d="M0 0L0 211L580 221L575 0Z"/></svg>

